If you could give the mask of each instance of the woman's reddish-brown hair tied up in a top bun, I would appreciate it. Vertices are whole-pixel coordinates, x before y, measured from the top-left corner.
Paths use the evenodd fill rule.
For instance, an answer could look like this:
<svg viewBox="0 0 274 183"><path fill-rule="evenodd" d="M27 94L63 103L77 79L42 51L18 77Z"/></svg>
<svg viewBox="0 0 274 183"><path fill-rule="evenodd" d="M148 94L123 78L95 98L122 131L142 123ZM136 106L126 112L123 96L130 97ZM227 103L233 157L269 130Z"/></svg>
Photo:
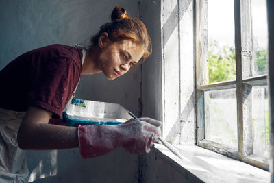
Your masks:
<svg viewBox="0 0 274 183"><path fill-rule="evenodd" d="M112 41L130 39L144 48L142 62L151 52L151 38L147 33L147 29L140 19L131 18L125 8L116 6L110 16L111 22L105 23L100 27L100 31L91 38L92 46L98 44L98 38L103 32L108 33L108 38Z"/></svg>

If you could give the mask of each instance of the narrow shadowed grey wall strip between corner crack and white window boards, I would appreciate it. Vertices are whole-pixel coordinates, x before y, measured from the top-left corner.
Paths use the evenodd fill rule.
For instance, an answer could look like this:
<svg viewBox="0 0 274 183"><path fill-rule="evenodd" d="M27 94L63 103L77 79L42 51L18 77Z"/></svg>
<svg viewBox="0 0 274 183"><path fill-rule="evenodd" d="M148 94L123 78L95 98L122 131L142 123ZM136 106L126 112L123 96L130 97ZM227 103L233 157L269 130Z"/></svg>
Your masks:
<svg viewBox="0 0 274 183"><path fill-rule="evenodd" d="M153 53L142 64L143 116L162 121L161 1L140 1L141 19L147 26Z"/></svg>

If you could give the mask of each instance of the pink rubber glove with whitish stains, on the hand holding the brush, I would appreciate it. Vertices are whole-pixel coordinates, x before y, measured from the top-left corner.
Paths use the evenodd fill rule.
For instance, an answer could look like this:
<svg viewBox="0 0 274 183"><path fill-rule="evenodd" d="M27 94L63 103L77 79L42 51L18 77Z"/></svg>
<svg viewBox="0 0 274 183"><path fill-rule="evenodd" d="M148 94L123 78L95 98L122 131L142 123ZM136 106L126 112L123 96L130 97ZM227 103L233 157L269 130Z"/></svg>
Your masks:
<svg viewBox="0 0 274 183"><path fill-rule="evenodd" d="M160 135L160 121L130 119L121 125L79 125L78 140L82 158L94 158L123 147L132 154L148 153Z"/></svg>

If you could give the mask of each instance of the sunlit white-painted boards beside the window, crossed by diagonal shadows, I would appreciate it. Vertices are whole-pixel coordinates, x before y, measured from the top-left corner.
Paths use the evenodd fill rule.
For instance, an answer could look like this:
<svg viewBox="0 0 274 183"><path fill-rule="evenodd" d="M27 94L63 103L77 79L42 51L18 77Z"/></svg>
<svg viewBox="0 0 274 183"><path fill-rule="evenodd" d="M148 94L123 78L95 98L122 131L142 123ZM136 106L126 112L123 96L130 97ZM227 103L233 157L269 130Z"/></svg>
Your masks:
<svg viewBox="0 0 274 183"><path fill-rule="evenodd" d="M171 143L195 144L193 1L160 1L160 78L163 136ZM156 65L157 66L157 65ZM149 68L151 69L151 67ZM157 67L156 67L157 69ZM153 70L155 71L155 70ZM152 85L152 82L151 82ZM156 109L159 107L156 107Z"/></svg>

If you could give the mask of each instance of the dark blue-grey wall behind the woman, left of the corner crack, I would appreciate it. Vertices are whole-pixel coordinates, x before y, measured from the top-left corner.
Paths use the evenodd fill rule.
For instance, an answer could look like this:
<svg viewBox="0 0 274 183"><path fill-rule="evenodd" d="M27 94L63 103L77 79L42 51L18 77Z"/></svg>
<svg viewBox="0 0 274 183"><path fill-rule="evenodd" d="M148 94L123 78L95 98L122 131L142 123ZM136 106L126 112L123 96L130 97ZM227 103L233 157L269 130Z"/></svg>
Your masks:
<svg viewBox="0 0 274 183"><path fill-rule="evenodd" d="M115 5L138 16L135 0L0 1L0 69L37 47L86 42L109 21ZM113 82L101 74L83 76L76 97L120 103L138 114L140 69ZM79 149L28 151L27 159L34 182L134 182L138 175L138 157L122 149L92 160L82 160Z"/></svg>

